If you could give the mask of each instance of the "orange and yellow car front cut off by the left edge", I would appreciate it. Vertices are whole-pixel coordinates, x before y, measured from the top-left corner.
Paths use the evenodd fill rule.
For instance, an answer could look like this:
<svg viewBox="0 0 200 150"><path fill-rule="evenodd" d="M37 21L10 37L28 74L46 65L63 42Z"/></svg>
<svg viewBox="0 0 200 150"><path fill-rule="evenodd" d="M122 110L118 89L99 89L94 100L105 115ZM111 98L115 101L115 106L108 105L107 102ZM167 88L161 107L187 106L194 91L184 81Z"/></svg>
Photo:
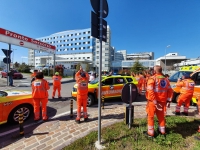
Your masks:
<svg viewBox="0 0 200 150"><path fill-rule="evenodd" d="M24 121L33 114L33 99L30 91L0 91L0 124L18 123L19 113Z"/></svg>

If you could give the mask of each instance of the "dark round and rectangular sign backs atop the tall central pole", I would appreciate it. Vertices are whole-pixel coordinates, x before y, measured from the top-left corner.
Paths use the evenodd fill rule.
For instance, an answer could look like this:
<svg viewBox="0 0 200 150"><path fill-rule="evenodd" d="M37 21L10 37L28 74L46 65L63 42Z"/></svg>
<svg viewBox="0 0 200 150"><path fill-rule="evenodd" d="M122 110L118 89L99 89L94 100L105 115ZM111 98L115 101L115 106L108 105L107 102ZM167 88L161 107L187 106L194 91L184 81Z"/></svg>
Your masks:
<svg viewBox="0 0 200 150"><path fill-rule="evenodd" d="M100 1L103 2L102 18L100 15ZM91 35L100 39L100 30L102 32L102 41L107 40L107 22L103 19L108 16L108 3L106 0L90 0L92 8L95 12L91 11ZM100 25L102 20L102 26Z"/></svg>

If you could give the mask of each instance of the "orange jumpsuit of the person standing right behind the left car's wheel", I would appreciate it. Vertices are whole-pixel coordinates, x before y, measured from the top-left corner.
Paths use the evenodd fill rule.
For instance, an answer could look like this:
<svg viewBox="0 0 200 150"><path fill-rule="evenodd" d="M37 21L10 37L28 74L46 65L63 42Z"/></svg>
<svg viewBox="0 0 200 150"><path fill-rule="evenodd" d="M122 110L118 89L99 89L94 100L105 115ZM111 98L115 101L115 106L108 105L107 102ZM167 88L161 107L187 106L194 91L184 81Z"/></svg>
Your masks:
<svg viewBox="0 0 200 150"><path fill-rule="evenodd" d="M34 120L40 119L40 103L42 103L42 119L46 120L47 117L47 103L49 83L44 79L36 79L32 82L32 97L34 105Z"/></svg>

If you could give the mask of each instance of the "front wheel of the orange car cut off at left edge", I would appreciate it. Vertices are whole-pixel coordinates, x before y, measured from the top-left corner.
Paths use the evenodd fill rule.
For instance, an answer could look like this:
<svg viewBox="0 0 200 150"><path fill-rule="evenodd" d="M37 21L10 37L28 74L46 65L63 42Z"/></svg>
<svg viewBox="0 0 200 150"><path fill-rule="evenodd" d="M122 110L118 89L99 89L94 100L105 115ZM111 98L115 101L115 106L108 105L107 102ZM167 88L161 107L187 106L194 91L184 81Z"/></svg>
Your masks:
<svg viewBox="0 0 200 150"><path fill-rule="evenodd" d="M25 121L31 116L31 114L33 112L33 108L29 104L22 104L22 105L15 107L9 114L8 122L17 124L18 119L19 119L19 114L21 111L24 114L24 121Z"/></svg>

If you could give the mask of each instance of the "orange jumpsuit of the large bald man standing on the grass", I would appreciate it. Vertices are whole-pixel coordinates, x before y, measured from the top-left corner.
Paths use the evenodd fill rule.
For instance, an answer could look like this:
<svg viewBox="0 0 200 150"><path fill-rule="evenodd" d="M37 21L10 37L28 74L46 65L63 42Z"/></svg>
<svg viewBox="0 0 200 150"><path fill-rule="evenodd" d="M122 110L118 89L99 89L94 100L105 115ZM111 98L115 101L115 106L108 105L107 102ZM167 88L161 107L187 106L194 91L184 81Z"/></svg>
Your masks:
<svg viewBox="0 0 200 150"><path fill-rule="evenodd" d="M155 74L148 79L146 91L148 135L154 136L154 114L158 118L159 131L165 134L164 107L166 107L167 101L171 101L172 96L173 90L170 83L162 74ZM161 109L158 109L158 106Z"/></svg>

